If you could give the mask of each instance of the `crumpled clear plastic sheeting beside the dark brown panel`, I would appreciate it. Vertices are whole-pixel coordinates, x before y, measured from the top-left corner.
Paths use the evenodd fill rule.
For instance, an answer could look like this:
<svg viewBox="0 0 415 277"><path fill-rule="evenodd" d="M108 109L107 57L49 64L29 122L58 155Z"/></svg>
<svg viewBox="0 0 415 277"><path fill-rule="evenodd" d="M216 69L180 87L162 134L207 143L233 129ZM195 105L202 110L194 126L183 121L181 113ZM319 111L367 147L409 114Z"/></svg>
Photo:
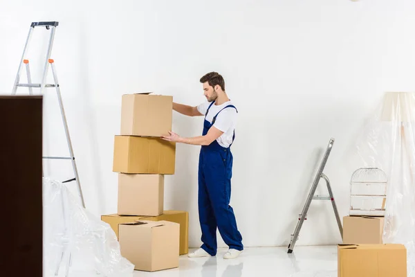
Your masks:
<svg viewBox="0 0 415 277"><path fill-rule="evenodd" d="M44 276L131 277L109 224L86 211L68 188L44 178Z"/></svg>

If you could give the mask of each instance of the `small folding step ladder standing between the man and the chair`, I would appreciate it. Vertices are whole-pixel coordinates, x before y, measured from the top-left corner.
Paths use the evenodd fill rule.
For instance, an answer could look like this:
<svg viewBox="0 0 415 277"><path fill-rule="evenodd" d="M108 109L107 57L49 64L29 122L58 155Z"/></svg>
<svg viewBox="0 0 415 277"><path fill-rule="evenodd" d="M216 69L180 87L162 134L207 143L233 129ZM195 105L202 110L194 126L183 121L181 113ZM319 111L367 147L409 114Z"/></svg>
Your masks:
<svg viewBox="0 0 415 277"><path fill-rule="evenodd" d="M333 191L331 190L330 181L329 181L329 178L326 175L324 175L324 173L323 173L324 167L326 166L327 159L329 159L329 154L331 152L331 148L333 148L333 143L334 143L334 139L330 139L329 145L327 146L326 152L324 153L322 163L320 164L320 168L317 172L317 175L315 176L313 186L311 186L310 193L308 194L306 204L304 205L302 213L300 213L299 216L298 216L297 226L295 226L295 231L294 231L293 235L291 235L290 244L288 244L288 253L293 253L293 249L295 247L295 242L297 242L297 240L298 240L299 231L301 230L301 227L302 227L302 224L304 223L304 220L307 219L308 208L310 208L310 204L311 204L312 200L330 200L331 201L331 204L333 206L333 211L334 211L334 214L335 214L335 218L338 222L340 235L343 238L342 222L340 220L340 216L339 216L339 213L338 213L338 208L337 208L337 206L335 204L335 201L334 201L334 196L333 196ZM317 189L318 183L319 183L321 178L326 181L327 189L329 190L329 195L328 196L314 195L315 190Z"/></svg>

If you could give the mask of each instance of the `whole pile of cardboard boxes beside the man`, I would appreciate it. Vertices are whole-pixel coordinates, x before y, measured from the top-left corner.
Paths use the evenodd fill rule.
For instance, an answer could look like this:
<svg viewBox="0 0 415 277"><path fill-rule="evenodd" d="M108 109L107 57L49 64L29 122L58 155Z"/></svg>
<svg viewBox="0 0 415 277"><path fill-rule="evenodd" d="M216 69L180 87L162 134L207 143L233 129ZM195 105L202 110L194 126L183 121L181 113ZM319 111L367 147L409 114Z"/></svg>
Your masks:
<svg viewBox="0 0 415 277"><path fill-rule="evenodd" d="M172 130L172 101L150 93L122 96L121 134L113 152L118 213L101 219L137 270L178 267L178 256L188 251L188 213L164 211L165 175L174 174L176 145L160 136Z"/></svg>

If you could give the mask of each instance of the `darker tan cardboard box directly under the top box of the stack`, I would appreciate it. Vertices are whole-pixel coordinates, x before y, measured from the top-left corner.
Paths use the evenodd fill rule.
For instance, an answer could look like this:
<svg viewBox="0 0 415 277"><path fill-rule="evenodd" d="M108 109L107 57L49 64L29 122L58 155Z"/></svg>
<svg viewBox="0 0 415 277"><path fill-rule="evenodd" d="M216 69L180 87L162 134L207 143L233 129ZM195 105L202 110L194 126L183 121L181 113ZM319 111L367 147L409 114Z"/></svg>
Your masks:
<svg viewBox="0 0 415 277"><path fill-rule="evenodd" d="M113 172L131 174L174 174L176 143L158 138L116 136Z"/></svg>

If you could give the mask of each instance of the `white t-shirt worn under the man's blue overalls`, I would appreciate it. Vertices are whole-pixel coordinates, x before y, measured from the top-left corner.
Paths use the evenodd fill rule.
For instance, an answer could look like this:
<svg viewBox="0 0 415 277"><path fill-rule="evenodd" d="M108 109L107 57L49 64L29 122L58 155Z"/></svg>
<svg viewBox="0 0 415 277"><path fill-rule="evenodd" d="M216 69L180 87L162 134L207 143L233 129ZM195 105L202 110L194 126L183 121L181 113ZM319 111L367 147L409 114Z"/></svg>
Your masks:
<svg viewBox="0 0 415 277"><path fill-rule="evenodd" d="M205 115L206 111L208 111L208 107L212 102L204 102L201 105L197 106L197 110ZM224 102L222 105L215 105L213 104L210 109L208 116L206 116L206 120L212 123L213 117L221 111L224 107L232 105L232 102ZM228 148L229 145L232 143L232 138L234 135L234 129L237 125L237 110L234 107L227 107L223 109L223 111L216 116L216 121L214 122L213 126L216 129L219 129L223 132L221 136L219 136L216 141L221 145L223 148Z"/></svg>

